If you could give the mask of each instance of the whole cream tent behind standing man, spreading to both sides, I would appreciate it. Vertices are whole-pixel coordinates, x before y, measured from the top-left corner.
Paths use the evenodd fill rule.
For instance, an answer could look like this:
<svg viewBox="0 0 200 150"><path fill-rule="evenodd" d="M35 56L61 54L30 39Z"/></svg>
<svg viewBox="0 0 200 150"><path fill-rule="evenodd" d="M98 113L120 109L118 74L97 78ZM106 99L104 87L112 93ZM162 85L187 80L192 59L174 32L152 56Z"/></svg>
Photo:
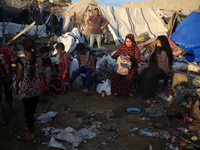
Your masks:
<svg viewBox="0 0 200 150"><path fill-rule="evenodd" d="M62 12L63 31L70 31L73 28L73 23L76 22L78 27L82 25L79 30L88 36L90 30L86 25L86 20L92 15L94 5L91 4L96 4L100 13L110 22L108 28L116 44L123 43L125 35L128 33L137 36L148 32L150 37L167 35L164 22L154 8L103 6L95 0L80 0L66 8Z"/></svg>

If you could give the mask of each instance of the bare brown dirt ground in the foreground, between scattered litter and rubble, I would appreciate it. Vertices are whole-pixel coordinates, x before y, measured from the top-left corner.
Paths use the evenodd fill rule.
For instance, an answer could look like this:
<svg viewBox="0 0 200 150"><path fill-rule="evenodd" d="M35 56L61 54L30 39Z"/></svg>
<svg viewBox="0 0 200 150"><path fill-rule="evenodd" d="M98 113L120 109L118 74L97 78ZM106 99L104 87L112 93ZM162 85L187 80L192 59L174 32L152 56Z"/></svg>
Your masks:
<svg viewBox="0 0 200 150"><path fill-rule="evenodd" d="M109 47L109 50L115 50L116 46ZM77 147L79 150L147 150L149 145L153 150L164 150L166 143L171 143L171 139L165 140L156 137L147 137L139 134L139 130L131 129L138 127L140 129L162 129L174 134L177 128L184 127L181 119L168 116L183 111L182 106L168 107L166 117L150 117L141 104L143 99L137 93L133 96L123 98L121 96L102 97L91 86L90 95L84 95L84 87L76 90L68 90L66 95L57 97L48 97L48 100L40 101L36 110L37 116L42 114L47 107L49 100L52 101L48 111L58 112L56 118L48 124L39 124L35 122L36 136L41 139L38 143L27 141L25 134L27 132L25 118L23 116L24 108L22 101L14 96L14 113L7 116L9 123L6 126L0 125L0 150L52 150L42 142L49 142L50 136L44 136L41 131L44 127L55 127L65 129L72 127L79 130L88 127L94 121L100 122L99 134L93 139L86 140ZM167 89L162 84L159 85L158 92L166 92ZM161 98L155 97L150 100L156 104L164 102ZM5 112L8 107L3 102ZM130 114L126 110L130 107L141 109L138 114ZM149 120L141 120L146 117ZM156 126L159 124L159 127Z"/></svg>

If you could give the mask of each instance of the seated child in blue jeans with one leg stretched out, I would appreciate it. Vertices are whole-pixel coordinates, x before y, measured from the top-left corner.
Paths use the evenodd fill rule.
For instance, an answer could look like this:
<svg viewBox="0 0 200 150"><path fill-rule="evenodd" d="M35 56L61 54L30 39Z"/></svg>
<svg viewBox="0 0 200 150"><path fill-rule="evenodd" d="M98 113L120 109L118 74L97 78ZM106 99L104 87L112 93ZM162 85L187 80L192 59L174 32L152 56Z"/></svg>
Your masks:
<svg viewBox="0 0 200 150"><path fill-rule="evenodd" d="M69 87L70 84L81 74L86 73L85 79L85 89L82 91L86 94L89 94L90 87L90 77L95 75L95 63L93 56L90 51L88 51L83 43L77 44L75 48L79 53L79 69L73 74L70 80L66 83L66 86Z"/></svg>

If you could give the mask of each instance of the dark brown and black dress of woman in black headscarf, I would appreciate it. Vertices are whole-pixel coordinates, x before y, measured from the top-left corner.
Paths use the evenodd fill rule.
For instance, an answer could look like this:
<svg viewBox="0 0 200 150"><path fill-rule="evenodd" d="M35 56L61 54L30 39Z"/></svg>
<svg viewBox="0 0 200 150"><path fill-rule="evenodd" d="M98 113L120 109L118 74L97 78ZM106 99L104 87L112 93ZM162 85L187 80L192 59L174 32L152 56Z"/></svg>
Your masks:
<svg viewBox="0 0 200 150"><path fill-rule="evenodd" d="M159 80L164 79L165 84L168 81L169 71L169 58L166 52L156 54L153 50L148 63L138 68L138 93L143 98L154 96Z"/></svg>

